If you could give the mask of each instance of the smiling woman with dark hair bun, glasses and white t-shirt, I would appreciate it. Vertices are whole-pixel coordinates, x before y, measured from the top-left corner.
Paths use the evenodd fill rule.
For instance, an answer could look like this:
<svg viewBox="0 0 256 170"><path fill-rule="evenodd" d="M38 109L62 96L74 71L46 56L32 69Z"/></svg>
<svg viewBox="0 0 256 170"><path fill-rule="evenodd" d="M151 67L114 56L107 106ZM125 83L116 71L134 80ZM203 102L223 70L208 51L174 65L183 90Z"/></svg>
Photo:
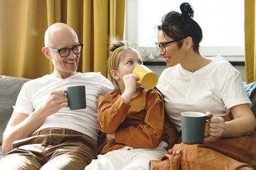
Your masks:
<svg viewBox="0 0 256 170"><path fill-rule="evenodd" d="M241 75L223 57L200 54L202 29L193 20L193 8L182 3L180 10L164 15L158 26L156 45L168 68L157 89L179 132L180 113L198 111L211 117L210 137L204 144L174 145L161 161L152 160L150 169L255 169L256 121Z"/></svg>

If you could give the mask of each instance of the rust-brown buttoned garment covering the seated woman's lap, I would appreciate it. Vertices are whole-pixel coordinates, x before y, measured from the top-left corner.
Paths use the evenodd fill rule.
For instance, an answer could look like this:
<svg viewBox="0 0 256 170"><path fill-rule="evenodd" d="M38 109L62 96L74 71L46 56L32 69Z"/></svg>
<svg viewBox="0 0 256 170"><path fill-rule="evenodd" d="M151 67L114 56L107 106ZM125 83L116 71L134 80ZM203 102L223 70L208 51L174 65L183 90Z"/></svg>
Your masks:
<svg viewBox="0 0 256 170"><path fill-rule="evenodd" d="M205 138L204 144L179 143L150 169L256 169L256 132L239 138Z"/></svg>

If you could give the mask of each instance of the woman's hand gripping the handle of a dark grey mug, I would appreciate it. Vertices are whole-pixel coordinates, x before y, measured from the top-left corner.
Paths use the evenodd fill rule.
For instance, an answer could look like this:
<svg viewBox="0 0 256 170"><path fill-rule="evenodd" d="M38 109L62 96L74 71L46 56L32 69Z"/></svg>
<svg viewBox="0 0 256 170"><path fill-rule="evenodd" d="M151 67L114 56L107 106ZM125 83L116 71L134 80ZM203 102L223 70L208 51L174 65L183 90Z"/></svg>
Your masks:
<svg viewBox="0 0 256 170"><path fill-rule="evenodd" d="M206 112L209 119L209 135L212 137L221 137L225 131L225 120L222 117L214 117L211 112Z"/></svg>

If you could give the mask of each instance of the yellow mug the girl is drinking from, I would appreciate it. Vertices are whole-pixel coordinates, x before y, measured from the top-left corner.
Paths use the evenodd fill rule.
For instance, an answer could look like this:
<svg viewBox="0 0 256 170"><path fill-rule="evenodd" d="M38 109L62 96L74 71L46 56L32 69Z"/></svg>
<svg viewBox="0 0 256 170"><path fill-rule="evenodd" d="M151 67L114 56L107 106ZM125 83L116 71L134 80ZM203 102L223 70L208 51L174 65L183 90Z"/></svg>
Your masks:
<svg viewBox="0 0 256 170"><path fill-rule="evenodd" d="M145 89L152 89L156 86L158 77L156 73L151 71L147 66L139 65L134 67L133 74L138 76L139 80L137 81Z"/></svg>

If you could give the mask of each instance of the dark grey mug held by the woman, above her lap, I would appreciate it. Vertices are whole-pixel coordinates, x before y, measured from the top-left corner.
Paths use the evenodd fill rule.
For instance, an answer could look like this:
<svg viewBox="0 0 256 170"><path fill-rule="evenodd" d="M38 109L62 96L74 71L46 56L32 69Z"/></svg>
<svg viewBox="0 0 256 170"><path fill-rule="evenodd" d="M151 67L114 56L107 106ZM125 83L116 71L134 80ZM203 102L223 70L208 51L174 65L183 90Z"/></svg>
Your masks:
<svg viewBox="0 0 256 170"><path fill-rule="evenodd" d="M196 111L186 111L181 113L181 136L182 141L187 144L204 143L204 138L209 137L209 134L204 134L205 113Z"/></svg>

